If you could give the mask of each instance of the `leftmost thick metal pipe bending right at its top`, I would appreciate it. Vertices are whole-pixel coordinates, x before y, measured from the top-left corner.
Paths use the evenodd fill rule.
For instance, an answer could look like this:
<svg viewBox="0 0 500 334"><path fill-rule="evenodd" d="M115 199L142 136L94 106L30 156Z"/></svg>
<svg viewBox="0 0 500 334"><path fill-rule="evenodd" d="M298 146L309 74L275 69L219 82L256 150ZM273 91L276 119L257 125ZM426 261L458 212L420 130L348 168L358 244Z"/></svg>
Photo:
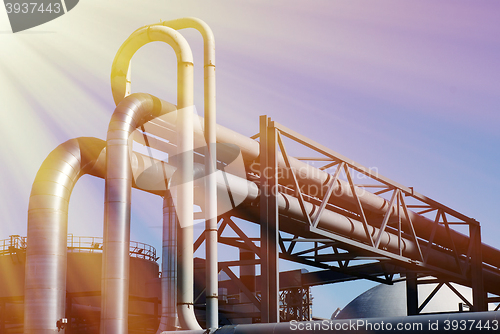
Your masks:
<svg viewBox="0 0 500 334"><path fill-rule="evenodd" d="M78 179L95 168L105 142L71 139L44 160L33 182L28 207L28 248L24 333L56 333L65 317L68 205Z"/></svg>

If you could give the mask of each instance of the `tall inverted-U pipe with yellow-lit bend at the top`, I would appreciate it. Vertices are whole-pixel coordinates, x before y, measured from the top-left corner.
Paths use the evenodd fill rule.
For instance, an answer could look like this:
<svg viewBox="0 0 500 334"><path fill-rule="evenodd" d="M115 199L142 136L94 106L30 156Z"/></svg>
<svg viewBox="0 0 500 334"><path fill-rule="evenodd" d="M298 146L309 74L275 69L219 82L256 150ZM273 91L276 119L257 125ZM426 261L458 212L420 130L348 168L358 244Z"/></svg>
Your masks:
<svg viewBox="0 0 500 334"><path fill-rule="evenodd" d="M181 226L179 228L179 261L178 261L178 314L181 326L185 329L198 329L201 328L196 317L194 315L193 308L193 189L191 187L192 180L192 170L193 170L193 56L191 49L187 44L186 40L175 30L164 27L164 26L145 26L136 30L130 37L122 44L118 50L112 65L111 71L111 83L112 83L112 93L115 103L120 103L120 101L130 94L130 62L132 56L135 52L141 48L143 45L153 42L153 41L163 41L168 43L175 51L177 56L177 139L178 139L178 155L180 156L178 162L178 171L180 178L180 186L177 190L177 215ZM119 105L118 105L119 106ZM141 123L136 124L140 126L145 123L145 120ZM129 145L128 140L130 134L135 128L130 129L127 125L126 135L121 134L120 150L128 152ZM126 138L125 138L126 137ZM179 154L183 153L183 154ZM108 153L108 157L111 153ZM122 165L126 166L126 165ZM122 167L123 168L123 167ZM121 171L126 173L126 171ZM109 175L108 175L109 177ZM117 179L121 177L117 175ZM130 189L128 186L130 181L121 182L122 186L122 201L128 207L127 211L130 210L130 202L127 199L125 192ZM119 190L120 186L113 188L113 191ZM111 191L111 190L110 190ZM128 201L128 202L127 202ZM123 217L122 225L129 224L130 217ZM128 221L128 223L127 223ZM128 230L128 226L122 226ZM129 230L128 230L129 231ZM124 234L120 237L126 240L127 235ZM121 253L121 258L125 260L123 256L123 251L116 252ZM103 264L104 265L104 264ZM116 273L118 274L118 270ZM111 279L111 277L110 277ZM121 288L120 295L126 296L127 291ZM112 303L112 301L109 301ZM119 312L119 314L109 313L109 316L103 314L101 321L101 333L108 333L104 326L108 322L113 324L111 326L110 333L121 333L127 332L127 321L126 313L120 307L113 307L113 312ZM103 311L106 312L106 308L103 307ZM112 320L114 318L115 320Z"/></svg>

